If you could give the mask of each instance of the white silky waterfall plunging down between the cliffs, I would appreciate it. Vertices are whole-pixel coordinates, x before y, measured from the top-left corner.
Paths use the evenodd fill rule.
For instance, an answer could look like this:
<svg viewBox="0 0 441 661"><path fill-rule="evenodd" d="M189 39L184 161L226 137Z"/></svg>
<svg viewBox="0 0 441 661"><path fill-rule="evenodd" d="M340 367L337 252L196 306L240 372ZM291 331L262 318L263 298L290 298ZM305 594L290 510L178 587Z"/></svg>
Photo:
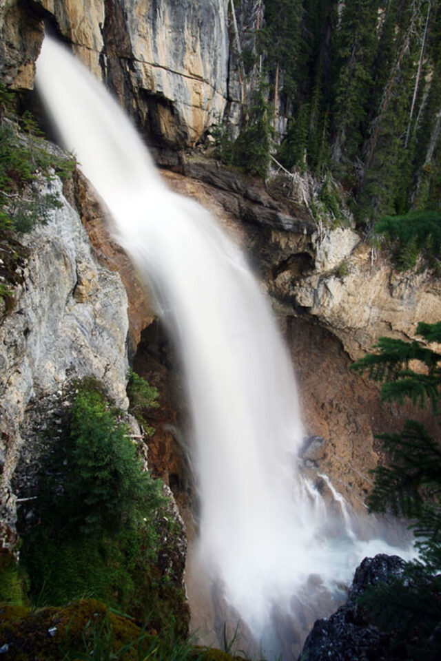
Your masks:
<svg viewBox="0 0 441 661"><path fill-rule="evenodd" d="M334 589L367 552L349 516L338 534L302 477L296 383L287 351L238 248L195 202L172 193L101 83L46 38L37 86L63 143L150 283L181 352L201 498L201 552L255 636L289 611L311 575Z"/></svg>

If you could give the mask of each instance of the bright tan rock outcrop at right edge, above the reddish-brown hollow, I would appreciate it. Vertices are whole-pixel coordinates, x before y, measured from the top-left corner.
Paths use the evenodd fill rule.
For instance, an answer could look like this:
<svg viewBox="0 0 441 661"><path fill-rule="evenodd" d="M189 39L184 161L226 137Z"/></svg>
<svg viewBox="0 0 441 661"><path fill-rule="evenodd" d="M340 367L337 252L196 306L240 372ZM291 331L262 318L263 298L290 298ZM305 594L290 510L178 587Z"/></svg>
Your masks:
<svg viewBox="0 0 441 661"><path fill-rule="evenodd" d="M418 322L441 319L441 280L416 269L398 273L383 255L372 260L366 244L345 260L342 275L313 273L296 282L283 275L278 291L308 308L354 360L378 337L415 339Z"/></svg>

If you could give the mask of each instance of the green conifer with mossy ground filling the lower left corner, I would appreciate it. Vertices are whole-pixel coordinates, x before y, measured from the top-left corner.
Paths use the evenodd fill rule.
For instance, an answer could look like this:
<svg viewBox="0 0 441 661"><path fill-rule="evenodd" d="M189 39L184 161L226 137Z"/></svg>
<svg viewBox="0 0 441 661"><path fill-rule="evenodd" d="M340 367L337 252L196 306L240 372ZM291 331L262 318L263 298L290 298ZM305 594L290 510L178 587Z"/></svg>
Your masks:
<svg viewBox="0 0 441 661"><path fill-rule="evenodd" d="M157 395L134 373L130 394L139 410ZM130 427L98 381L74 384L60 405L63 416L45 432L32 516L19 522L20 563L0 556L5 658L194 656L184 642L183 558L174 548L182 530L161 481L145 470Z"/></svg>

